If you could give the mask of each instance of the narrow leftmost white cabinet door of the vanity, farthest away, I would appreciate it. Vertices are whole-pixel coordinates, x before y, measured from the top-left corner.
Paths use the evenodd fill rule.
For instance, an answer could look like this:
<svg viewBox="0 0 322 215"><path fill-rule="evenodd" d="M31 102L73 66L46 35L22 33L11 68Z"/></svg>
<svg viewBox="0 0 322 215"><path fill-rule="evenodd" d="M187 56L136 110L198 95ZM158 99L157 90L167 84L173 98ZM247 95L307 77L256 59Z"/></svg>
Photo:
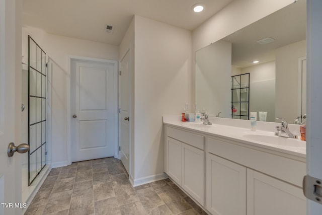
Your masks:
<svg viewBox="0 0 322 215"><path fill-rule="evenodd" d="M181 145L182 143L167 137L168 145L168 175L181 185Z"/></svg>

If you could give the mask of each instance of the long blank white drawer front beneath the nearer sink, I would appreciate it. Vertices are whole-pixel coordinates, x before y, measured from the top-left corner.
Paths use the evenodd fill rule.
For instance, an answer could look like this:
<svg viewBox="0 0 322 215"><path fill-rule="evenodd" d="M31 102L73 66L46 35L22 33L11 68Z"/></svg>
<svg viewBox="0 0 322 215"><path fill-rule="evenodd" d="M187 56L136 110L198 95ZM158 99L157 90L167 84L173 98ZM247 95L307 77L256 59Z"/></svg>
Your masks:
<svg viewBox="0 0 322 215"><path fill-rule="evenodd" d="M302 187L304 162L208 137L207 152Z"/></svg>

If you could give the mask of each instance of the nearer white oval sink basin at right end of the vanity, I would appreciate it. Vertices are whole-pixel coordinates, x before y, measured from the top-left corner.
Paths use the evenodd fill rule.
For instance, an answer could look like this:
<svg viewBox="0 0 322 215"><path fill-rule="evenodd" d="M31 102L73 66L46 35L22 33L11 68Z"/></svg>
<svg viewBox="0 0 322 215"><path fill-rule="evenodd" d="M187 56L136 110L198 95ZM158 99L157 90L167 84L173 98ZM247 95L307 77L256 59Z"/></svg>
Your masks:
<svg viewBox="0 0 322 215"><path fill-rule="evenodd" d="M247 133L243 135L246 139L253 140L256 142L262 142L268 145L275 145L287 148L305 148L306 142L298 138L288 138L283 136L275 136L272 134L256 134Z"/></svg>

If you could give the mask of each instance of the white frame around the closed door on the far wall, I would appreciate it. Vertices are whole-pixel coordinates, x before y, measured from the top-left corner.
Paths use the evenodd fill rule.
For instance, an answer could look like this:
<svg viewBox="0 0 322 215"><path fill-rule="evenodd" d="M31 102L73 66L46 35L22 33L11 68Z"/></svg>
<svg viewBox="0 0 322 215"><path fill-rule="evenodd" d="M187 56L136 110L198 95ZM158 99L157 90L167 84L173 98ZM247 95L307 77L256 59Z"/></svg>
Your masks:
<svg viewBox="0 0 322 215"><path fill-rule="evenodd" d="M67 74L67 79L66 79L66 99L67 99L67 117L66 117L66 124L67 124L67 165L71 164L71 101L70 101L70 92L71 92L71 61L72 60L79 60L79 61L88 61L88 62L96 62L96 63L109 63L114 65L114 80L113 82L115 83L114 85L114 97L113 97L113 102L115 102L114 106L114 122L115 124L115 131L114 131L114 136L115 136L115 142L114 142L114 158L119 158L119 140L118 140L118 131L119 131L119 125L118 125L118 61L117 60L108 60L108 59L101 59L101 58L93 58L93 57L84 57L84 56L76 56L76 55L69 55L67 60L68 63L68 73Z"/></svg>

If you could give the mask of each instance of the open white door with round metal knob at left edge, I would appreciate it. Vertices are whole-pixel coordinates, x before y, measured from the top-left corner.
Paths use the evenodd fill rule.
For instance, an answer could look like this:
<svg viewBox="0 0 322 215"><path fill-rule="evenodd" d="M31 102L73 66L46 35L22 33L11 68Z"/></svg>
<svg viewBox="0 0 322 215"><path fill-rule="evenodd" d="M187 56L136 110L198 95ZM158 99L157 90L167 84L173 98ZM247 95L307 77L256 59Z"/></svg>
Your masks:
<svg viewBox="0 0 322 215"><path fill-rule="evenodd" d="M19 214L21 208L15 203L22 203L21 155L15 153L11 158L7 155L10 142L17 141L16 146L21 144L18 142L21 141L20 126L16 126L21 121L21 83L18 83L21 81L21 52L16 54L19 50L16 45L20 45L16 43L16 34L21 31L16 32L15 12L16 1L0 0L0 214Z"/></svg>

